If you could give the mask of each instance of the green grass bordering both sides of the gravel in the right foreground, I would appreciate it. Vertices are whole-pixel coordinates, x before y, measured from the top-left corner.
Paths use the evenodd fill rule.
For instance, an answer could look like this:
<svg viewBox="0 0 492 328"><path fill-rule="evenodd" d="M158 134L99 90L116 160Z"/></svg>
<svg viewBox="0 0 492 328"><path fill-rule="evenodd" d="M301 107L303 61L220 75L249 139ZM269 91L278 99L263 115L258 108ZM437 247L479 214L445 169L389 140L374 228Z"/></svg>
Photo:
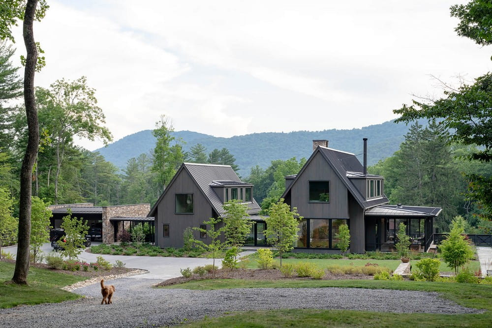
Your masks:
<svg viewBox="0 0 492 328"><path fill-rule="evenodd" d="M418 290L438 292L441 297L463 306L487 311L483 314L445 315L315 309L265 310L235 312L220 318L206 318L186 327L490 327L492 322L492 285L381 280L259 282L224 279L193 281L175 286L175 288L190 289L247 287L353 287Z"/></svg>

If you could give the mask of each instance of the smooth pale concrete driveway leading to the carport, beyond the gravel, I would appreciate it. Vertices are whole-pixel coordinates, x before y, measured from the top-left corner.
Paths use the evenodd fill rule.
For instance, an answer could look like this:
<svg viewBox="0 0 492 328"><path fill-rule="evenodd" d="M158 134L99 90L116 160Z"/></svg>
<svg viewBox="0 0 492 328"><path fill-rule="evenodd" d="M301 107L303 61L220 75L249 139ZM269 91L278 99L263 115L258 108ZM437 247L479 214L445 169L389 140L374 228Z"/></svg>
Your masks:
<svg viewBox="0 0 492 328"><path fill-rule="evenodd" d="M92 245L100 244L100 242L92 242ZM17 246L10 246L2 248L5 252L10 252L14 255L17 254ZM51 244L46 243L41 248L41 251L46 255L52 252ZM79 255L79 259L88 263L95 262L96 257L101 254L92 254L88 252L82 252ZM123 261L126 264L126 268L139 268L146 269L149 273L141 274L137 276L131 276L128 278L147 278L147 279L170 279L181 276L181 268L195 268L197 266L204 266L212 264L212 259L203 258L190 258L190 257L158 257L158 256L125 256L125 255L101 255L105 260L115 263L116 260ZM215 259L215 265L220 267L221 260Z"/></svg>

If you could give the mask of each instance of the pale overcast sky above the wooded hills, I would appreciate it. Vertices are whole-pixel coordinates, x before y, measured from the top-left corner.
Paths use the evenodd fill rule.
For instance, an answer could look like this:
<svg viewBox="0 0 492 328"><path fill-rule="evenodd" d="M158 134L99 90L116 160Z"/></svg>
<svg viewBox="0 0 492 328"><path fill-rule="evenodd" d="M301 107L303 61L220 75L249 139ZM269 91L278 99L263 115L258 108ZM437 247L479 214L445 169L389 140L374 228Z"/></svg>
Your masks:
<svg viewBox="0 0 492 328"><path fill-rule="evenodd" d="M467 1L48 2L35 84L87 76L115 141L161 114L220 137L360 128L438 95L431 74L472 81L492 65L454 31L449 7Z"/></svg>

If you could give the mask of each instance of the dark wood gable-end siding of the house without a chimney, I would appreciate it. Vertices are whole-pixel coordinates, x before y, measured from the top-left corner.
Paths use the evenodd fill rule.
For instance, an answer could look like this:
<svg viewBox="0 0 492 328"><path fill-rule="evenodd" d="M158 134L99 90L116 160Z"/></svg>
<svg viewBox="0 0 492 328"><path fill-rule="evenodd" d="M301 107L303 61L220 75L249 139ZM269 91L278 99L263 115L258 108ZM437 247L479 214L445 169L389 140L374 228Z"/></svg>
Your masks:
<svg viewBox="0 0 492 328"><path fill-rule="evenodd" d="M157 205L155 242L161 248L183 247L184 229L187 227L199 227L203 224L203 221L208 221L212 216L213 210L185 169L180 172L179 176L168 188L170 189L166 191L166 194ZM175 194L193 194L193 214L175 214ZM164 224L169 224L169 238L163 237ZM210 242L209 238L200 239L198 231L193 231L193 236L198 240Z"/></svg>

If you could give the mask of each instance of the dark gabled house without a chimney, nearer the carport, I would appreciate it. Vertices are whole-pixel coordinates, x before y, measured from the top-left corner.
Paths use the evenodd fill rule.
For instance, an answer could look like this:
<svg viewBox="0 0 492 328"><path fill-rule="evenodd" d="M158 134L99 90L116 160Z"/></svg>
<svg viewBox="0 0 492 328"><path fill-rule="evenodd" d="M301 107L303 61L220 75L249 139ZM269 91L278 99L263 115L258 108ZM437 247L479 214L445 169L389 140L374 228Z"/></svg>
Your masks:
<svg viewBox="0 0 492 328"><path fill-rule="evenodd" d="M224 203L232 199L246 205L248 219L260 220L253 185L241 181L229 165L183 163L149 212L154 217L155 244L162 248L182 247L187 227L204 227L203 222L209 218L223 217ZM259 230L261 239L263 228ZM256 224L249 237L253 242L255 231ZM206 234L193 234L195 239L210 242Z"/></svg>

